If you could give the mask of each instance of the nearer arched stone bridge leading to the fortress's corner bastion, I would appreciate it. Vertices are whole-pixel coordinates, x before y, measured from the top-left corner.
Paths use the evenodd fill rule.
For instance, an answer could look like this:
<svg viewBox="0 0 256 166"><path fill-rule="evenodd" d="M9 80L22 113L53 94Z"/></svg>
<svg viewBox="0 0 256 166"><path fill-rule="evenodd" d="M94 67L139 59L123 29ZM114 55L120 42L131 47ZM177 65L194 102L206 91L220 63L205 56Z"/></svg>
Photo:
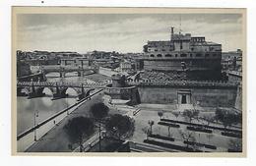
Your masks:
<svg viewBox="0 0 256 166"><path fill-rule="evenodd" d="M17 95L29 96L29 98L41 97L44 88L51 90L52 99L65 98L68 88L73 88L78 93L79 100L90 95L90 92L95 88L105 88L109 83L53 83L53 82L18 82Z"/></svg>

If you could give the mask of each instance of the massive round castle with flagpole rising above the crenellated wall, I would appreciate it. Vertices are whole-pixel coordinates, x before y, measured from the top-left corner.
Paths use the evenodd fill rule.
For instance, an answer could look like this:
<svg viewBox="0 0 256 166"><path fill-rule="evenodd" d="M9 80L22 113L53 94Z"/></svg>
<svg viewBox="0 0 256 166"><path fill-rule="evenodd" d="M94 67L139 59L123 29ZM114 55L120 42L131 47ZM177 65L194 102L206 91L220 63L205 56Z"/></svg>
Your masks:
<svg viewBox="0 0 256 166"><path fill-rule="evenodd" d="M206 41L204 36L174 33L170 40L148 41L140 66L145 71L182 75L184 80L221 80L222 44Z"/></svg>

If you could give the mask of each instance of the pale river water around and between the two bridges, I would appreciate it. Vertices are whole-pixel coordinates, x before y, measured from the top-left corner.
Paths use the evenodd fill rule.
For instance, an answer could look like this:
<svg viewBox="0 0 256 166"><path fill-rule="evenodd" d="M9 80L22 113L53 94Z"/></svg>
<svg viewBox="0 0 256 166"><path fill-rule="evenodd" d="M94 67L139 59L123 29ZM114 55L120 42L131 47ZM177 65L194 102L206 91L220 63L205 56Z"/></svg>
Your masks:
<svg viewBox="0 0 256 166"><path fill-rule="evenodd" d="M86 77L78 77L76 73L66 74L66 78L59 78L58 73L51 73L46 75L47 82L85 82L94 83ZM67 98L51 100L52 92L48 88L44 88L45 96L28 99L28 97L17 97L17 135L19 136L26 130L38 124L64 108L73 105L77 102L77 92L68 88L69 95ZM38 116L34 116L38 115Z"/></svg>

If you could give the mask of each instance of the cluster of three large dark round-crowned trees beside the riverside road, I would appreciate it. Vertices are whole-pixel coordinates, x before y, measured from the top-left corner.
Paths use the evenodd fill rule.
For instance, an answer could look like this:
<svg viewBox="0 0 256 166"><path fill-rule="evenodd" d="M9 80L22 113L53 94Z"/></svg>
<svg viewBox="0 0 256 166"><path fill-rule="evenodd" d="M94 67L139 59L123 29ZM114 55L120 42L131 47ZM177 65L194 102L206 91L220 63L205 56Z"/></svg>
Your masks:
<svg viewBox="0 0 256 166"><path fill-rule="evenodd" d="M85 138L90 137L98 128L99 151L101 151L101 133L110 138L125 139L133 135L134 120L128 116L114 114L108 115L109 108L103 103L96 103L90 109L90 117L76 117L70 120L64 130L71 143L78 143L82 152Z"/></svg>

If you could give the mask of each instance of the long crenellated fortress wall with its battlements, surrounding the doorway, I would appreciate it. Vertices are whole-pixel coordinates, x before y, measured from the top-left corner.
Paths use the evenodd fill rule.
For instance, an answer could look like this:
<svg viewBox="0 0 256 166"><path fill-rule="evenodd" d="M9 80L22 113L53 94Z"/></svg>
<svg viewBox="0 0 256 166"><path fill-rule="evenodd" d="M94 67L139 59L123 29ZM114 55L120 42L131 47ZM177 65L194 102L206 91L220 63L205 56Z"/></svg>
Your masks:
<svg viewBox="0 0 256 166"><path fill-rule="evenodd" d="M142 103L177 104L179 90L191 90L191 103L205 107L235 107L241 105L237 98L237 83L213 81L127 81L127 85L136 85ZM239 95L239 93L238 93Z"/></svg>

